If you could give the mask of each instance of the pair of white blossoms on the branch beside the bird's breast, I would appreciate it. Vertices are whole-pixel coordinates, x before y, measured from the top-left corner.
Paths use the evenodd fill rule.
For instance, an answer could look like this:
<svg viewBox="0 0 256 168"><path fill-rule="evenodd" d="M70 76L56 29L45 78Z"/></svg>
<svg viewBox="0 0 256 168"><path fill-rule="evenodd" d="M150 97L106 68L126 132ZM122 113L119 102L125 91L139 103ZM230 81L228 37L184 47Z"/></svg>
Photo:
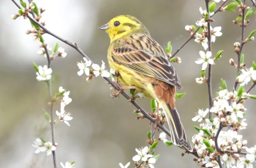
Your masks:
<svg viewBox="0 0 256 168"><path fill-rule="evenodd" d="M91 61L90 60L87 60L85 57L84 57L84 62L81 61L77 63L77 66L78 68L80 69L79 72L77 72L77 74L79 76L81 76L83 73L85 73L87 76L86 78L86 81L90 82L92 77L95 76L95 77L98 77L99 75L101 75L101 77L106 77L108 78L110 76L110 73L105 70L105 63L102 61L102 65L101 67L98 65L98 64L92 64L91 65ZM90 66L92 68L90 68Z"/></svg>

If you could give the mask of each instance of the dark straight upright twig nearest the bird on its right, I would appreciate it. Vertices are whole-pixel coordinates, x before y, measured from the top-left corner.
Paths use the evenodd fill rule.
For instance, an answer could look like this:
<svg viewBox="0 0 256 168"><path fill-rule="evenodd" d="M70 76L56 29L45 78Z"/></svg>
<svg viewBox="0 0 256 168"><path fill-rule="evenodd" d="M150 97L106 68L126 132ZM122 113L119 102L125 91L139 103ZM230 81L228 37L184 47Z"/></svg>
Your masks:
<svg viewBox="0 0 256 168"><path fill-rule="evenodd" d="M208 51L211 52L211 23L210 23L210 11L209 11L209 0L205 0L206 4L206 11L209 15L209 19L207 20L207 39L208 39ZM212 100L212 65L209 64L208 68L208 78L207 78L207 85L208 85L208 94L209 94L209 108L212 108L213 100ZM209 119L212 118L212 113L209 113Z"/></svg>

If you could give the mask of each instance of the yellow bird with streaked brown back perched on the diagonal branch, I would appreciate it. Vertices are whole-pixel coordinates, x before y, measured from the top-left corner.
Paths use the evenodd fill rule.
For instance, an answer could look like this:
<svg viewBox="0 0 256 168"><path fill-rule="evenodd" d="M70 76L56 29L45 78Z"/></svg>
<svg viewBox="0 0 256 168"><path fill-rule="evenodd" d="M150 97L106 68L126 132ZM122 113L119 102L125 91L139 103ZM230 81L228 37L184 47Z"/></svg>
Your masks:
<svg viewBox="0 0 256 168"><path fill-rule="evenodd" d="M157 112L159 104L164 109L172 143L192 152L175 107L176 88L182 89L182 86L164 49L150 36L146 27L131 15L117 16L99 29L110 37L108 63L119 73L118 80L123 85L119 86L118 94L125 89L135 89L144 93L144 97L155 99ZM155 123L159 121L159 115L157 118Z"/></svg>

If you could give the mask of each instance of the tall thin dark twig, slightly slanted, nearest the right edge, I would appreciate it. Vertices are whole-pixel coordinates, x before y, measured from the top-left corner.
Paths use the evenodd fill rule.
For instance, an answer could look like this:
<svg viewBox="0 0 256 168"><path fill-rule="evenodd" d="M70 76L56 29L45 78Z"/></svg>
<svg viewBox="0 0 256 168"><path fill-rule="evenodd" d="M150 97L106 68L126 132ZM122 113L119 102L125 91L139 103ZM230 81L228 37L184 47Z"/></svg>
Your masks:
<svg viewBox="0 0 256 168"><path fill-rule="evenodd" d="M244 0L245 3L245 0ZM244 4L245 5L245 4ZM241 64L241 53L242 53L242 49L244 46L244 17L245 17L245 9L242 9L242 26L241 26L241 44L240 44L240 50L239 52L237 52L237 56L238 56L238 63L237 63L237 74L236 76L239 74L240 72L240 64ZM234 84L234 91L236 90L238 82L235 81Z"/></svg>

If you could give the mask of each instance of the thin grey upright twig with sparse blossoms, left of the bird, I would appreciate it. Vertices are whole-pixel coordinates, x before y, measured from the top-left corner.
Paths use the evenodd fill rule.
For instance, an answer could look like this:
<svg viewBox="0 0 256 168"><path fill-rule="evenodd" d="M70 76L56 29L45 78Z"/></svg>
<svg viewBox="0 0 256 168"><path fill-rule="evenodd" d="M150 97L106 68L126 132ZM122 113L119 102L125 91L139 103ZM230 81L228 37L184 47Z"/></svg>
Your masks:
<svg viewBox="0 0 256 168"><path fill-rule="evenodd" d="M46 58L47 58L47 67L50 68L50 56L49 53L47 51L46 46L44 45L44 50L46 53ZM48 92L49 92L49 98L50 101L52 99L52 85L51 85L51 79L49 79L47 81L47 86L48 86ZM51 106L50 106L50 114L51 114L51 132L52 132L52 144L55 145L55 129L54 129L54 116L53 116L53 102L51 102ZM54 168L57 168L57 159L56 159L56 153L55 151L52 151L52 156L53 156L53 165Z"/></svg>

